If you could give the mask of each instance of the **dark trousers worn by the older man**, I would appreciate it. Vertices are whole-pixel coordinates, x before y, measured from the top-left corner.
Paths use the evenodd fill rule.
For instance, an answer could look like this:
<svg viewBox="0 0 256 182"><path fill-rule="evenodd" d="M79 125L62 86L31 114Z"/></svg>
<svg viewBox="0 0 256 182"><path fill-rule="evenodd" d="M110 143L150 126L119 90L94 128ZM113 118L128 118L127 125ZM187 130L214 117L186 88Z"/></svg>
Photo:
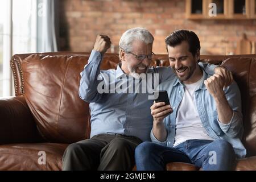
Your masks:
<svg viewBox="0 0 256 182"><path fill-rule="evenodd" d="M142 141L121 134L95 135L70 144L63 155L63 170L131 170L135 148Z"/></svg>

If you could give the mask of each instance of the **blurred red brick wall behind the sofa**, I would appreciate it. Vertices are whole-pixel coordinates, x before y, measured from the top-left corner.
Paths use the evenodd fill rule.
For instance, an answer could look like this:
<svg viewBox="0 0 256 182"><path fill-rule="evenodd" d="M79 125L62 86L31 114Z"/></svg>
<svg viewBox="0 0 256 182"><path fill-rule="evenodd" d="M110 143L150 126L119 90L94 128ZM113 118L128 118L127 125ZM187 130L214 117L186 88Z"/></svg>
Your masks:
<svg viewBox="0 0 256 182"><path fill-rule="evenodd" d="M155 37L153 51L166 53L164 38L177 29L195 31L201 54L235 52L243 32L256 41L256 20L187 20L185 0L61 0L60 36L64 51L90 52L97 34L109 35L118 52L122 33L144 27ZM109 50L110 52L110 50Z"/></svg>

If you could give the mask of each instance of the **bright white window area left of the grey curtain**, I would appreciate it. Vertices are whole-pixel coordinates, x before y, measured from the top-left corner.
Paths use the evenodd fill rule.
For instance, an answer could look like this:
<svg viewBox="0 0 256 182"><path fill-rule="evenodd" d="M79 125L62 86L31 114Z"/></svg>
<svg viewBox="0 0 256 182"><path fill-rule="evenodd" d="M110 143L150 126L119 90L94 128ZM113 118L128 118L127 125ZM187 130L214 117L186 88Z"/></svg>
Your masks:
<svg viewBox="0 0 256 182"><path fill-rule="evenodd" d="M11 56L28 52L36 52L36 1L1 0L0 97L14 95Z"/></svg>

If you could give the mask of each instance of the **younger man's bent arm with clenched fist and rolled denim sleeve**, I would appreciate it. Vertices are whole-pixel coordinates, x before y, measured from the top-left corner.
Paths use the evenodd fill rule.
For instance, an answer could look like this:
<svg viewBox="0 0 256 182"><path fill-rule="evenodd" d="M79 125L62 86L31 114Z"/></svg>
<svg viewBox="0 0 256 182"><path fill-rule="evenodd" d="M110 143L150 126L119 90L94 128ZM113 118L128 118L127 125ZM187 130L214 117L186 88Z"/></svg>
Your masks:
<svg viewBox="0 0 256 182"><path fill-rule="evenodd" d="M232 78L233 79L233 78ZM225 89L222 76L214 74L204 81L208 92L216 102L218 123L221 130L231 138L237 137L242 131L241 94L236 82Z"/></svg>

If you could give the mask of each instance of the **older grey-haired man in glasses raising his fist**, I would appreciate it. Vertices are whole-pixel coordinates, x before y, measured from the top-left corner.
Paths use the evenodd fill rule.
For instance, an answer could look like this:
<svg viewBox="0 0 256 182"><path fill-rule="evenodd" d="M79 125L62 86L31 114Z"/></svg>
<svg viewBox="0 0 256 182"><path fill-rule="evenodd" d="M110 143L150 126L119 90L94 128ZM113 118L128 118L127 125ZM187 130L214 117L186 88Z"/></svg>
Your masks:
<svg viewBox="0 0 256 182"><path fill-rule="evenodd" d="M88 64L81 72L79 88L81 99L90 102L90 139L68 146L63 156L64 170L133 168L135 147L150 140L153 101L148 100L149 93L129 91L136 82L142 86L140 75L145 73L158 73L157 82L175 77L171 68L150 68L153 41L154 37L144 28L127 30L119 42L121 63L116 70L101 71L102 57L111 42L108 36L97 36ZM205 68L213 72L214 66ZM216 71L226 74L224 68ZM152 85L152 82L147 81L147 84ZM115 86L120 84L122 92L117 92Z"/></svg>

